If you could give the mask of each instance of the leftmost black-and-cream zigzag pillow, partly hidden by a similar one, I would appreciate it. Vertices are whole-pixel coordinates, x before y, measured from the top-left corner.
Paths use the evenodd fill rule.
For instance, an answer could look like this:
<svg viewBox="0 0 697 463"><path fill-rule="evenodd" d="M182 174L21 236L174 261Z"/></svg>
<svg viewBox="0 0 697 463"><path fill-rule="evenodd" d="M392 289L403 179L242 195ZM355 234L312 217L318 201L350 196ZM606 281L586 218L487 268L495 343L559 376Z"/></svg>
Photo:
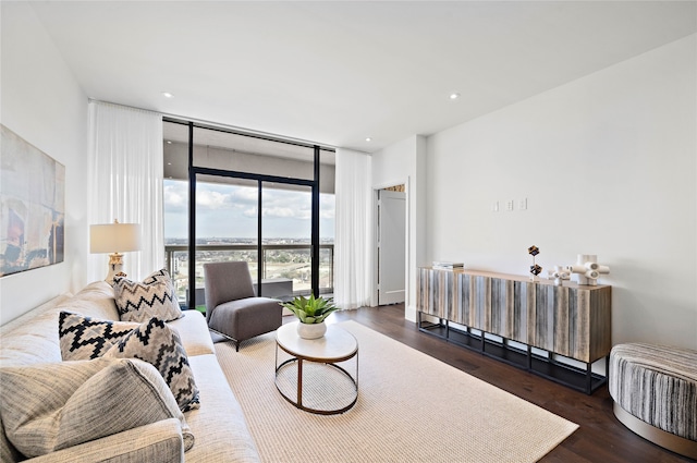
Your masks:
<svg viewBox="0 0 697 463"><path fill-rule="evenodd" d="M140 324L108 321L70 312L58 318L58 338L63 361L87 361L102 356Z"/></svg>

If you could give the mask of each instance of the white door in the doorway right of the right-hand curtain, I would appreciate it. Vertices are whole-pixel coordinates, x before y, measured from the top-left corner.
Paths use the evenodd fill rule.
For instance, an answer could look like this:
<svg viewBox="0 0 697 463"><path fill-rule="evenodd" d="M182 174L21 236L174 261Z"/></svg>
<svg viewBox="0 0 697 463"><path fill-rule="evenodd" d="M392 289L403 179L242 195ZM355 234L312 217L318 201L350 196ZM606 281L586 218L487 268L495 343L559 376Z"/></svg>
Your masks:
<svg viewBox="0 0 697 463"><path fill-rule="evenodd" d="M406 193L378 192L378 305L404 302Z"/></svg>

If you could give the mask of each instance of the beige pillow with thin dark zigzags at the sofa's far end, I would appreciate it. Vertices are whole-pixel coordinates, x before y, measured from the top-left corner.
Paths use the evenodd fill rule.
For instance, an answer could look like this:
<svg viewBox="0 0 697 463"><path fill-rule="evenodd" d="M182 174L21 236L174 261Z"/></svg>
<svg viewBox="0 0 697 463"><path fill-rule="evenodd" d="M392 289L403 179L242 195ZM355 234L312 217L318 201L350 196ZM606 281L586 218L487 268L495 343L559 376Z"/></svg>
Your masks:
<svg viewBox="0 0 697 463"><path fill-rule="evenodd" d="M182 317L174 284L164 269L143 282L114 278L113 295L121 321L143 322L152 317L171 321Z"/></svg>

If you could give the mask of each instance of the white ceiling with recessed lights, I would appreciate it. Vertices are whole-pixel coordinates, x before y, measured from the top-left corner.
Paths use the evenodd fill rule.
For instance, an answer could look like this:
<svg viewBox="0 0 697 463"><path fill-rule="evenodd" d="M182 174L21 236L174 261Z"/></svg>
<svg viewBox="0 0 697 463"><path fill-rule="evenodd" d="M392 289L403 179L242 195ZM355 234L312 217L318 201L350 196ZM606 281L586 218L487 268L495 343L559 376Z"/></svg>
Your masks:
<svg viewBox="0 0 697 463"><path fill-rule="evenodd" d="M364 151L697 31L695 1L32 4L90 98Z"/></svg>

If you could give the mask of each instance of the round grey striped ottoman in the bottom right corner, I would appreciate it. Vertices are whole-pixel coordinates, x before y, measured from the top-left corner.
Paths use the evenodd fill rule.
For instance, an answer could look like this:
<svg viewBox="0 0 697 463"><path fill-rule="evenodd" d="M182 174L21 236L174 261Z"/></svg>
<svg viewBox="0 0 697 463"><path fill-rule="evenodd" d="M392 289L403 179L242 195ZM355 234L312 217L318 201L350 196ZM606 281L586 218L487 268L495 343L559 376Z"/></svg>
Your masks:
<svg viewBox="0 0 697 463"><path fill-rule="evenodd" d="M645 439L697 459L697 351L617 344L610 395L622 424Z"/></svg>

